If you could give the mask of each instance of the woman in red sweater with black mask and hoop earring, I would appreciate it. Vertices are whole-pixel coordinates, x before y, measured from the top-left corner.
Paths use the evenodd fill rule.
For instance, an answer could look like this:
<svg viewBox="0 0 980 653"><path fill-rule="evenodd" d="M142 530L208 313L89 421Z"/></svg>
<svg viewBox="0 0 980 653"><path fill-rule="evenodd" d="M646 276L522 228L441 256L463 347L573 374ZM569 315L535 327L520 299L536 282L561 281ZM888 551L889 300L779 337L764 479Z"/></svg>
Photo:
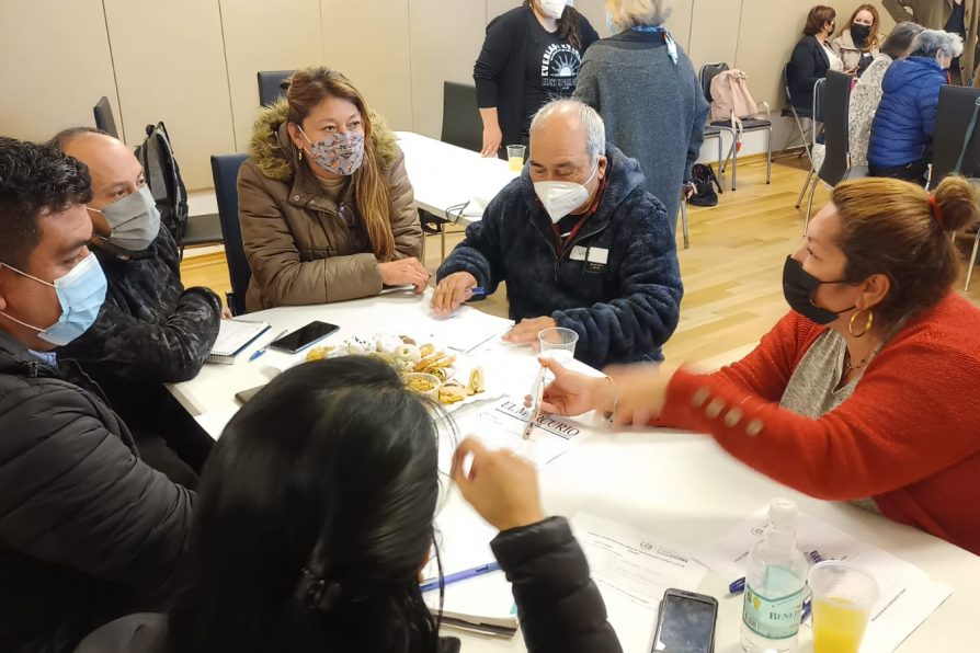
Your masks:
<svg viewBox="0 0 980 653"><path fill-rule="evenodd" d="M794 309L710 375L556 374L545 410L710 433L812 496L853 501L980 554L980 310L951 290L951 232L978 215L961 177L837 185L787 259ZM612 381L612 382L609 382Z"/></svg>

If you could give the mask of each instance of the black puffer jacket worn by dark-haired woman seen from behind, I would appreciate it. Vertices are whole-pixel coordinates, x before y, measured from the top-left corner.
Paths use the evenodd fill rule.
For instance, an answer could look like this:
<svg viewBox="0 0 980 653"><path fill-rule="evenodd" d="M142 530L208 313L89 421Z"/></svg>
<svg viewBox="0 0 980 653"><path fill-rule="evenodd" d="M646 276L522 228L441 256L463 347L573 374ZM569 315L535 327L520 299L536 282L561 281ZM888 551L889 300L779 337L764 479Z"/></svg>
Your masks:
<svg viewBox="0 0 980 653"><path fill-rule="evenodd" d="M508 530L491 547L513 584L529 653L622 653L568 522L551 517ZM163 615L130 615L93 632L75 653L178 652Z"/></svg>

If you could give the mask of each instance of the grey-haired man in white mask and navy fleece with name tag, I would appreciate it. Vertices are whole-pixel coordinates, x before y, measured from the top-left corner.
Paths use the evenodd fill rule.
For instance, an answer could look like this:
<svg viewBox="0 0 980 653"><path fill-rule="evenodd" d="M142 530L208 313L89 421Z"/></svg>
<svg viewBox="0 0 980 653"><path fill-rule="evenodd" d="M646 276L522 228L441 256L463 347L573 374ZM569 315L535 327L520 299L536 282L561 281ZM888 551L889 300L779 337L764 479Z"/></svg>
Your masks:
<svg viewBox="0 0 980 653"><path fill-rule="evenodd" d="M537 344L563 326L579 335L576 358L662 360L677 325L681 272L663 204L643 174L605 141L599 114L577 100L546 104L531 123L531 156L437 273L436 314L506 282L504 336Z"/></svg>

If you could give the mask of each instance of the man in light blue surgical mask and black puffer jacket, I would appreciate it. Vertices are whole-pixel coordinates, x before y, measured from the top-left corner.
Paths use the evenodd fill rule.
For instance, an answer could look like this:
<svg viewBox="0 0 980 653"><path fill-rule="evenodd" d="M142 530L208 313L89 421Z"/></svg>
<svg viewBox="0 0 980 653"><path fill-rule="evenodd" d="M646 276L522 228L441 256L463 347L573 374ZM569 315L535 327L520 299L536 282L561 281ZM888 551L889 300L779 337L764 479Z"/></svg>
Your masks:
<svg viewBox="0 0 980 653"><path fill-rule="evenodd" d="M83 164L0 138L0 651L71 651L158 605L193 494L145 465L98 386L50 351L94 321Z"/></svg>

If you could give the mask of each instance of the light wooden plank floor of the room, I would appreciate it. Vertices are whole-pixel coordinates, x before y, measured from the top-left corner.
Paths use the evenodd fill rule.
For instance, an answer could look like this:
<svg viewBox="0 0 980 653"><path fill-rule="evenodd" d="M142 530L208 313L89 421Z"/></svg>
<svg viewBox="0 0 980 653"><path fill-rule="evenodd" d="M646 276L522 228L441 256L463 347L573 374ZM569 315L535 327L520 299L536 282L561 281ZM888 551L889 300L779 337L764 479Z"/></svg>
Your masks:
<svg viewBox="0 0 980 653"><path fill-rule="evenodd" d="M727 363L751 348L788 310L782 271L786 255L799 247L802 237L806 204L799 210L795 204L805 177L801 161L787 157L773 164L773 181L766 185L765 160L747 160L739 165L738 191L726 188L716 207L688 210L691 249L683 249L677 228L684 299L681 323L664 346L668 358L709 367ZM814 210L827 198L821 184ZM460 232L449 233L446 251L460 239ZM964 240L962 245L968 244ZM440 238L430 236L425 264L434 272L438 261ZM186 286L208 286L221 297L230 288L220 253L186 259L182 274ZM962 289L962 280L957 289ZM980 278L967 296L980 305ZM506 316L502 291L476 306Z"/></svg>

